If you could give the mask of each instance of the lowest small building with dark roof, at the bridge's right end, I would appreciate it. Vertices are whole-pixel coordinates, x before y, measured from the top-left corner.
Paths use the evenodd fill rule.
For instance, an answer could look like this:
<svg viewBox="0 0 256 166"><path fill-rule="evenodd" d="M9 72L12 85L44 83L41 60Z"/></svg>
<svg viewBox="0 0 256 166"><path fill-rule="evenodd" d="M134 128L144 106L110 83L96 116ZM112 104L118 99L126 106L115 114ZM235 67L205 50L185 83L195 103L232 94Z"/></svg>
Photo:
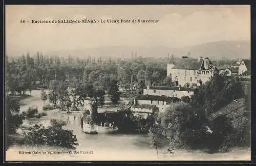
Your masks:
<svg viewBox="0 0 256 166"><path fill-rule="evenodd" d="M156 96L156 95L139 95L134 99L135 105L155 105L160 112L164 112L164 109L168 107L170 103L178 102L176 97ZM143 107L143 109L151 109L149 107Z"/></svg>

